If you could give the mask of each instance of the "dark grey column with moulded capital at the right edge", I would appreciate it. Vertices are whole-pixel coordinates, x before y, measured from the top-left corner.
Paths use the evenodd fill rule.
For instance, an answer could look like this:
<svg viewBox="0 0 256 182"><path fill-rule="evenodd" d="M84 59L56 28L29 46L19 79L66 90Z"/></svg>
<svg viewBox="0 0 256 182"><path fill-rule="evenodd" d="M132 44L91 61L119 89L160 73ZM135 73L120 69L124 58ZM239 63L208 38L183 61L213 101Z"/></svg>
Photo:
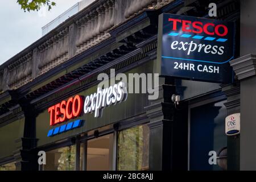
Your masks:
<svg viewBox="0 0 256 182"><path fill-rule="evenodd" d="M241 87L240 170L256 170L256 55L230 61Z"/></svg>

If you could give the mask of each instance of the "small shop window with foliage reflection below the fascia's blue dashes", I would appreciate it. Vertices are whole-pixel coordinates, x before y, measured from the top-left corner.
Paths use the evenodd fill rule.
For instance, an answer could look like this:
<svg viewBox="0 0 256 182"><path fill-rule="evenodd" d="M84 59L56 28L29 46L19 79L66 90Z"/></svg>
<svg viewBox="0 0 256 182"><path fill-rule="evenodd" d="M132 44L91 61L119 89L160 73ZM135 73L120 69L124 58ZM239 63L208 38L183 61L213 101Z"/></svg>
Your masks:
<svg viewBox="0 0 256 182"><path fill-rule="evenodd" d="M68 146L46 152L46 171L74 171L76 147Z"/></svg>

